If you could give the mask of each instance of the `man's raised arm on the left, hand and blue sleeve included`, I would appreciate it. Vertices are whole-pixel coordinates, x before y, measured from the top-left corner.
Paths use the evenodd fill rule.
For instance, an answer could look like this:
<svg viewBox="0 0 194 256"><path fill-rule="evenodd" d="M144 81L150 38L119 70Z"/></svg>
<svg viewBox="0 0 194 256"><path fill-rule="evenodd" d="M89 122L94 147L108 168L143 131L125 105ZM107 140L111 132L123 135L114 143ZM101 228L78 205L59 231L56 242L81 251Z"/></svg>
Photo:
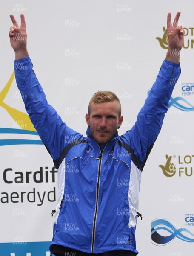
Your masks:
<svg viewBox="0 0 194 256"><path fill-rule="evenodd" d="M69 128L48 104L46 95L33 71L33 64L26 47L26 23L21 14L19 28L14 15L10 15L14 26L9 31L10 43L15 51L15 78L22 94L25 108L41 140L51 154L55 166L59 166L61 155L66 154L66 147L73 141L82 140L83 136Z"/></svg>

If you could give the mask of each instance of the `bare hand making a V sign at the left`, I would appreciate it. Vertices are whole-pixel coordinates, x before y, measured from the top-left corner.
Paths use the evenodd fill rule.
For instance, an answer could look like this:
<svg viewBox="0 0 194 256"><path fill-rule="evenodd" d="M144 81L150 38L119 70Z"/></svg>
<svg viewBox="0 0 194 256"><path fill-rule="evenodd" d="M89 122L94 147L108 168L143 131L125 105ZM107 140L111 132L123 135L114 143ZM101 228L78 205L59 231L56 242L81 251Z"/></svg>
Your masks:
<svg viewBox="0 0 194 256"><path fill-rule="evenodd" d="M26 22L23 14L21 17L21 26L19 27L14 15L10 14L13 26L10 27L9 38L12 48L15 51L15 59L24 58L28 56L27 51L27 34L26 34Z"/></svg>

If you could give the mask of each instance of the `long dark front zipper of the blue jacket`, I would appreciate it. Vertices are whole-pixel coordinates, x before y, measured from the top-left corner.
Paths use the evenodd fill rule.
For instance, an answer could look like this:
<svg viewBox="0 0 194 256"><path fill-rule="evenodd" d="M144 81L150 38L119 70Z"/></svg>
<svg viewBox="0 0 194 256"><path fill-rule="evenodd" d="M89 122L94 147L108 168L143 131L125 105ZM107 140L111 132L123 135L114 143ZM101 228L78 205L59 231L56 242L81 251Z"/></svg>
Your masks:
<svg viewBox="0 0 194 256"><path fill-rule="evenodd" d="M104 146L103 151L104 151L105 148L106 148L106 145ZM99 165L98 165L98 178L97 178L97 189L96 189L96 205L95 205L94 221L93 221L93 229L92 229L91 253L94 253L94 241L95 241L95 233L96 233L96 219L97 219L99 187L100 187L100 170L101 170L103 151L100 148L100 156L97 158L97 159L99 159L100 162L99 162Z"/></svg>

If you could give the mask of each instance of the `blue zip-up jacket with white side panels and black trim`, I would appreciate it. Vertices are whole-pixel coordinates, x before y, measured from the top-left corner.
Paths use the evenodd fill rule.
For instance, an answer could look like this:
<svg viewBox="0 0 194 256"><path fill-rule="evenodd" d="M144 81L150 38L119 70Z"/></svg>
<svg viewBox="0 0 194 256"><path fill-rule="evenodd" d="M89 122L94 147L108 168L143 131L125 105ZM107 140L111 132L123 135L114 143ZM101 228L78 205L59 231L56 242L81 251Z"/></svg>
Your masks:
<svg viewBox="0 0 194 256"><path fill-rule="evenodd" d="M163 61L145 105L130 131L103 150L92 138L69 128L40 86L28 57L15 65L17 86L41 140L58 169L53 244L101 253L131 250L135 243L141 173L160 132L180 64ZM25 69L23 68L25 67Z"/></svg>

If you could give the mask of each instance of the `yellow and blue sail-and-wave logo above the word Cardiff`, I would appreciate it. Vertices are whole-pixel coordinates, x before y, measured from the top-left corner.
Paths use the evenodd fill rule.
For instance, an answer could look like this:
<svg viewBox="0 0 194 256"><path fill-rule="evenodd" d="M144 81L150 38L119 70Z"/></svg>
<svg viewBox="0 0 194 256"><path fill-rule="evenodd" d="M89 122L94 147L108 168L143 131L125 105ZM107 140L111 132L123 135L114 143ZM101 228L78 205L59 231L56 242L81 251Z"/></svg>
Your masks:
<svg viewBox="0 0 194 256"><path fill-rule="evenodd" d="M7 82L6 86L0 93L0 106L4 108L11 118L13 119L14 127L17 128L0 128L0 134L12 134L11 136L15 137L17 134L22 134L23 138L7 138L7 139L0 139L0 146L5 145L21 145L21 144L39 144L42 145L42 141L38 137L38 133L34 128L34 125L31 123L31 120L28 114L23 113L15 108L10 107L4 101L6 98L7 93L11 87L11 84L14 80L14 72L12 73L9 81ZM31 139L31 135L35 135L35 139ZM21 135L19 135L20 137ZM8 135L10 137L10 135ZM38 140L37 140L38 139Z"/></svg>

